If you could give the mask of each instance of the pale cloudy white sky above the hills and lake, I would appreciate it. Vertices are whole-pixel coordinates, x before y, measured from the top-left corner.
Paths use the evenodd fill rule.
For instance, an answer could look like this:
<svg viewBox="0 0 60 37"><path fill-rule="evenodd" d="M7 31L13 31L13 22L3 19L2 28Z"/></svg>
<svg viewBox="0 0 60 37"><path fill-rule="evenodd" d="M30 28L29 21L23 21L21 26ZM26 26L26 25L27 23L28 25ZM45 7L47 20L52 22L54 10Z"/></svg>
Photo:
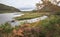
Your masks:
<svg viewBox="0 0 60 37"><path fill-rule="evenodd" d="M0 0L0 3L21 9L33 9L40 0Z"/></svg>

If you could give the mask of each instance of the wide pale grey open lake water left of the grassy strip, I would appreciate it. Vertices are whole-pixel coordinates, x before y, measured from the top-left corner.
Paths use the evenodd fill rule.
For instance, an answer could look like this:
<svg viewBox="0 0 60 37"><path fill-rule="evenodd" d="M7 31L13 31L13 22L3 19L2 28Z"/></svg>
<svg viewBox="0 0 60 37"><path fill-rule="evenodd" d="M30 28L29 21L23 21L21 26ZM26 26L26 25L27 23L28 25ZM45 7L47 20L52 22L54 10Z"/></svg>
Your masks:
<svg viewBox="0 0 60 37"><path fill-rule="evenodd" d="M0 24L14 20L14 17L21 16L21 13L4 13L0 14ZM17 24L18 22L10 22L11 24Z"/></svg>

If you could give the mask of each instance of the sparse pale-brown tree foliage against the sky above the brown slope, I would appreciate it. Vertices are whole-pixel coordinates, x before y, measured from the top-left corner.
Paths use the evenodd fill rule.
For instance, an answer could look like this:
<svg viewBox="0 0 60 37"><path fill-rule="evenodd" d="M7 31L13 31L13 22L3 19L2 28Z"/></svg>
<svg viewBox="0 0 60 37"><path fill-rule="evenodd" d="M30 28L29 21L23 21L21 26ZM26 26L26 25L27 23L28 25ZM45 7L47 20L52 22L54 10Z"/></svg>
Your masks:
<svg viewBox="0 0 60 37"><path fill-rule="evenodd" d="M38 12L39 12L39 10L42 8L42 7L44 7L44 6L49 6L49 2L51 3L51 4L54 4L55 3L55 5L58 5L58 4L60 4L60 1L57 1L57 0L41 0L43 3L41 4L41 3L37 3L36 4L36 7L37 7L37 10L38 10ZM52 1L52 2L51 2Z"/></svg>

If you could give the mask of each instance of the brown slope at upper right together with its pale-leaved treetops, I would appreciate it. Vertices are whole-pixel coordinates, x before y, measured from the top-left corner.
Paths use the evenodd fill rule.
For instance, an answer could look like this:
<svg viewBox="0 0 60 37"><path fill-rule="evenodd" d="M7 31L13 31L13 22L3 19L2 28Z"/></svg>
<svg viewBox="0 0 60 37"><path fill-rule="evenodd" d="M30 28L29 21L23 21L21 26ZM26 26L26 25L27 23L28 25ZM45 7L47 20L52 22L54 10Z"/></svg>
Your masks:
<svg viewBox="0 0 60 37"><path fill-rule="evenodd" d="M36 7L37 7L38 12L43 12L43 11L44 12L53 12L53 13L60 12L60 6L58 6L60 1L58 1L58 2L57 2L57 0L53 0L53 2L51 2L51 1L42 0L43 3L37 3ZM54 3L56 3L56 4L54 4Z"/></svg>

